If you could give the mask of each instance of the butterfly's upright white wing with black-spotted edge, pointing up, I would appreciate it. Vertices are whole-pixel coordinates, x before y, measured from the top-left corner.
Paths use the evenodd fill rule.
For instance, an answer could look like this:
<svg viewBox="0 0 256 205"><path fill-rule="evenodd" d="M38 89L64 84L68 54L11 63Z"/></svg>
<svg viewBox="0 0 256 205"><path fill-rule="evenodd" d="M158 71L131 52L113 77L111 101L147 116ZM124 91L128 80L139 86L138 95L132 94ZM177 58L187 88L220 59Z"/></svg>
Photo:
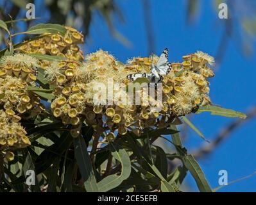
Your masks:
<svg viewBox="0 0 256 205"><path fill-rule="evenodd" d="M160 75L167 75L171 70L171 63L168 62L168 49L164 49L162 54L160 55L158 61L156 70L158 74Z"/></svg>

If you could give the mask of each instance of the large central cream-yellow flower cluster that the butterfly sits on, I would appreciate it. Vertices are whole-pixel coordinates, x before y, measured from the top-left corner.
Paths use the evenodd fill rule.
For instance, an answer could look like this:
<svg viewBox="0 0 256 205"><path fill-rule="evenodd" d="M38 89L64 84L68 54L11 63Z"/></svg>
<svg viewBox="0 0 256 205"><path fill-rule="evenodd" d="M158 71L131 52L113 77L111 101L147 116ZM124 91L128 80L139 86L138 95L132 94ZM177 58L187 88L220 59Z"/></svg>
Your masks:
<svg viewBox="0 0 256 205"><path fill-rule="evenodd" d="M153 56L153 60L157 62L158 57ZM103 124L121 135L128 130L140 133L148 126L167 126L176 117L195 112L198 106L205 104L205 99L209 99L207 79L214 76L209 67L213 63L213 58L202 52L183 56L183 62L172 63L171 72L164 76L163 101L152 98L141 89L142 103L136 105L124 104L119 97L129 99L126 76L150 72L151 57L133 58L124 65L99 50L85 56L82 65L72 61L53 62L46 69L46 79L55 85L56 99L51 104L53 115L60 117L64 124L72 124L74 129L85 120L91 125ZM119 86L112 90L113 103L103 104L108 101L108 96L101 95L95 88L98 85L108 88L110 80ZM143 103L145 98L150 103ZM155 107L162 109L154 111L152 108Z"/></svg>

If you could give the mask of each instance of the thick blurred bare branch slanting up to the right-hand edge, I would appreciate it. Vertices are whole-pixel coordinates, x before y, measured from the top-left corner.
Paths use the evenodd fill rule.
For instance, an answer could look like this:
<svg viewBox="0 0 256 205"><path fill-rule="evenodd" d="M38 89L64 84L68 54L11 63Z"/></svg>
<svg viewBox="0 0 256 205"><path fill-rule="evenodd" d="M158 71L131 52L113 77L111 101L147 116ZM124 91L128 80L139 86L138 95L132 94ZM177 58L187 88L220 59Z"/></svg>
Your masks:
<svg viewBox="0 0 256 205"><path fill-rule="evenodd" d="M246 119L237 119L234 120L234 122L232 122L230 125L228 125L227 127L225 127L215 138L215 140L213 142L210 142L209 145L205 146L205 147L201 147L198 152L194 153L195 158L199 159L199 158L203 158L207 155L209 155L211 152L214 151L214 149L224 140L226 140L226 138L228 138L228 136L231 135L231 133L233 133L235 131L235 129L238 129L239 127L241 127L245 122L248 122L249 120L252 120L254 117L256 117L256 106L253 107L250 111L248 111L248 113L246 113L247 118Z"/></svg>

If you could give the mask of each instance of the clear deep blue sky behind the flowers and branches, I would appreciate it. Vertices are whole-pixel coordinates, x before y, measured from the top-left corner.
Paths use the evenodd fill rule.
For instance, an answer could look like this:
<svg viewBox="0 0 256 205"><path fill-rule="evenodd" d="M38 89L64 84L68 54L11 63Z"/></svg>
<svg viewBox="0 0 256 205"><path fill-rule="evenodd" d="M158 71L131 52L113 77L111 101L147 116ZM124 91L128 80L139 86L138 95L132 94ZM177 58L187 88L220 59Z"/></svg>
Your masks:
<svg viewBox="0 0 256 205"><path fill-rule="evenodd" d="M169 48L169 61L182 61L185 54L198 50L216 55L219 41L223 33L225 20L218 18L218 13L212 6L212 1L200 1L201 10L198 18L189 26L186 22L185 12L187 1L150 0L153 19L153 33L155 37L155 53L160 54L165 47ZM144 27L141 1L117 1L123 12L125 24L115 20L115 28L124 35L132 47L124 47L110 35L110 32L98 15L94 15L90 29L90 38L85 42L84 51L90 53L103 49L109 51L118 60L126 61L133 56L147 56L148 42ZM252 3L252 1L243 1ZM47 12L38 1L36 15L47 17ZM37 13L37 9L40 10ZM243 13L242 13L243 14ZM240 20L240 19L238 19ZM235 33L239 32L238 24L234 25ZM255 105L255 54L244 57L241 49L237 47L235 38L228 40L227 49L221 65L216 70L216 76L210 79L210 97L214 104L237 111L246 112ZM255 49L255 44L252 44ZM200 131L211 140L223 127L234 119L212 116L208 113L192 116L192 122ZM225 142L221 143L209 157L200 160L212 188L219 186L219 170L228 171L228 180L232 181L252 174L256 171L255 136L256 119L237 129ZM193 131L185 140L185 147L189 152L196 151L205 142ZM187 183L192 190L197 191L196 184L191 176ZM255 192L256 175L239 183L225 186L222 192Z"/></svg>

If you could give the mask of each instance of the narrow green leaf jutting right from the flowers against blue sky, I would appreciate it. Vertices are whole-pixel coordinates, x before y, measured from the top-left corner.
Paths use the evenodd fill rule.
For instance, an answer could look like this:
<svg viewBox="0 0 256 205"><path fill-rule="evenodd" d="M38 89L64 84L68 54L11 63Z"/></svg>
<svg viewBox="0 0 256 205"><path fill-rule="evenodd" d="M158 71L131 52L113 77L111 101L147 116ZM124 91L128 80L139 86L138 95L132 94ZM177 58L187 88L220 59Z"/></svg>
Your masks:
<svg viewBox="0 0 256 205"><path fill-rule="evenodd" d="M212 105L200 107L196 113L200 114L204 111L209 111L212 115L220 115L223 117L240 117L246 119L246 115L244 113Z"/></svg>

